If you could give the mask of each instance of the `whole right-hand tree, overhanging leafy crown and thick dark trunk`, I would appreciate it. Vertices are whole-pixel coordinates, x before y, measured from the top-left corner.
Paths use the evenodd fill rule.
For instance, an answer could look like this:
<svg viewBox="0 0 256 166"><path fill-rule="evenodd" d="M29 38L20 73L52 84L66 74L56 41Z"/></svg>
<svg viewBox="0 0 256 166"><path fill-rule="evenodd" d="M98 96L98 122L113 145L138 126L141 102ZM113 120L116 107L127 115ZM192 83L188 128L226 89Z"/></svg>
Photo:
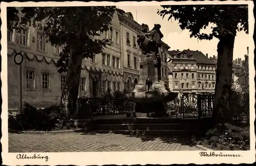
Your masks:
<svg viewBox="0 0 256 166"><path fill-rule="evenodd" d="M219 39L213 117L216 124L230 121L234 38L238 31L248 34L248 5L172 5L162 8L158 14L163 18L168 15L168 20L178 20L182 30L189 30L190 37ZM201 33L210 23L215 24L215 27L211 27L211 33Z"/></svg>

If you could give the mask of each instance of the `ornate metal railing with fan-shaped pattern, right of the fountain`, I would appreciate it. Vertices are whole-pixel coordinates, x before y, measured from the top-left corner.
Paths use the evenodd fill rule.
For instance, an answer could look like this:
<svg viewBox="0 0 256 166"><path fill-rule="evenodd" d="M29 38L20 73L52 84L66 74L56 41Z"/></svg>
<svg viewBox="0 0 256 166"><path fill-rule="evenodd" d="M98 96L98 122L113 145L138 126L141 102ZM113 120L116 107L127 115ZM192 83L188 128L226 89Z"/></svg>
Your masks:
<svg viewBox="0 0 256 166"><path fill-rule="evenodd" d="M212 116L214 94L183 94L179 104L168 104L169 110L174 110L176 118L201 118Z"/></svg>

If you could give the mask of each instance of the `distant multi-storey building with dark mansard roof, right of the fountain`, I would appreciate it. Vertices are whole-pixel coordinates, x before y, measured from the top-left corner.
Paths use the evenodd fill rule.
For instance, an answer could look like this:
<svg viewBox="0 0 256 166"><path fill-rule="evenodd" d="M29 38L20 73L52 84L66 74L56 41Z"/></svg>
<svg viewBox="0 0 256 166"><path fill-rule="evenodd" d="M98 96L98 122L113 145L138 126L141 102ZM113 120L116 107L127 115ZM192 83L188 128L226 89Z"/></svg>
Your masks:
<svg viewBox="0 0 256 166"><path fill-rule="evenodd" d="M173 58L169 63L169 87L173 92L179 93L213 93L215 90L216 63L208 59L201 51L170 50Z"/></svg>

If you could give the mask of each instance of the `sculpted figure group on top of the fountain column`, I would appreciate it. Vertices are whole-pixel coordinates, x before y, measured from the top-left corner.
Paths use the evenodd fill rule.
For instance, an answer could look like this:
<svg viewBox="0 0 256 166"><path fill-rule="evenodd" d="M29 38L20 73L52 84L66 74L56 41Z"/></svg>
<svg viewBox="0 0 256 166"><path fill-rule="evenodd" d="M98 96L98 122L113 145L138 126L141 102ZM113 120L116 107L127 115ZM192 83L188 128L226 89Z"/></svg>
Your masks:
<svg viewBox="0 0 256 166"><path fill-rule="evenodd" d="M142 31L138 34L137 43L143 54L152 52L158 54L158 48L161 47L161 39L163 38L160 28L160 24L155 24L153 29L149 31L148 25L142 24Z"/></svg>

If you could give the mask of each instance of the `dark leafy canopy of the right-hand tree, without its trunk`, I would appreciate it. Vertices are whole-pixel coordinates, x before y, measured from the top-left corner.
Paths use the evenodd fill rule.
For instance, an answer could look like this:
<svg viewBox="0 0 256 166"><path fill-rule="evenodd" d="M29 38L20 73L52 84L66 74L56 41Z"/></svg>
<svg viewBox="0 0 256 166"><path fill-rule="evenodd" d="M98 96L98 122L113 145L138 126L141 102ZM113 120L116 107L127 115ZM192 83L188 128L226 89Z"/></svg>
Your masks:
<svg viewBox="0 0 256 166"><path fill-rule="evenodd" d="M174 18L179 21L182 30L189 30L190 37L200 40L211 40L213 37L221 38L226 35L236 36L237 31L248 34L248 5L166 5L161 6L158 14L168 20ZM210 34L200 31L210 24Z"/></svg>

